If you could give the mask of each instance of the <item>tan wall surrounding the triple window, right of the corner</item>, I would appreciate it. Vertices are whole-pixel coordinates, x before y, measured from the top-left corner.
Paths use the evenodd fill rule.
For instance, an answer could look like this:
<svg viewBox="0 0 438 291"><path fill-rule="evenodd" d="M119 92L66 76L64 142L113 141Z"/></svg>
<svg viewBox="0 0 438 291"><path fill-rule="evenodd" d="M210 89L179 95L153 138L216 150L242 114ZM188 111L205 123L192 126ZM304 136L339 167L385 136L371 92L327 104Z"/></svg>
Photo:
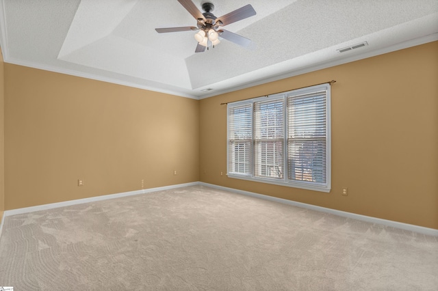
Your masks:
<svg viewBox="0 0 438 291"><path fill-rule="evenodd" d="M335 79L332 191L220 176L231 102ZM200 102L202 182L438 229L438 42ZM348 187L348 196L341 195Z"/></svg>

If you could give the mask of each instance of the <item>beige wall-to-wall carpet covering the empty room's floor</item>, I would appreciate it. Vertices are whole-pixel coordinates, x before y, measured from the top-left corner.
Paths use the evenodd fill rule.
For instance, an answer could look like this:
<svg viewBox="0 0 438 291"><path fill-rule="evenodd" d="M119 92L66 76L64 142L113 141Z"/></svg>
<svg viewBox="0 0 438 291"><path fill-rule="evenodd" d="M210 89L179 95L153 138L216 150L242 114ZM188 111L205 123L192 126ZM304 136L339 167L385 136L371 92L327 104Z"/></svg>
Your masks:
<svg viewBox="0 0 438 291"><path fill-rule="evenodd" d="M438 238L218 191L5 218L14 290L438 290Z"/></svg>

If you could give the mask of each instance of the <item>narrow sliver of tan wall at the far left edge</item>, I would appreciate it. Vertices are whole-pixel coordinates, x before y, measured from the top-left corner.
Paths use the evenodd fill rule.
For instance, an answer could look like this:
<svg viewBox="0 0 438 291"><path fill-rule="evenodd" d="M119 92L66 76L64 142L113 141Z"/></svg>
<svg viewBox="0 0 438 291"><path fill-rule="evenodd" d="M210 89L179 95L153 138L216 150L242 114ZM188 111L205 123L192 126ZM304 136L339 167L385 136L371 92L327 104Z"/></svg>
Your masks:
<svg viewBox="0 0 438 291"><path fill-rule="evenodd" d="M3 71L3 54L0 49L0 224L3 219L3 212L5 210L5 156L4 156L4 128L5 128L5 85L4 85L4 71Z"/></svg>

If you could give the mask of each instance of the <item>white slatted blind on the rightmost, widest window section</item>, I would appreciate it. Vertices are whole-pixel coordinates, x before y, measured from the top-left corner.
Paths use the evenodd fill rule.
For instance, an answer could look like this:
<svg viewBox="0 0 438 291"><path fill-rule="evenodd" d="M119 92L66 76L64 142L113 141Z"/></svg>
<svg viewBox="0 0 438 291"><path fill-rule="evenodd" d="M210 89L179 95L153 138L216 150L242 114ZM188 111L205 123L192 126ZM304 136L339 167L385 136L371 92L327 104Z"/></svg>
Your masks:
<svg viewBox="0 0 438 291"><path fill-rule="evenodd" d="M289 180L326 183L326 92L287 97Z"/></svg>

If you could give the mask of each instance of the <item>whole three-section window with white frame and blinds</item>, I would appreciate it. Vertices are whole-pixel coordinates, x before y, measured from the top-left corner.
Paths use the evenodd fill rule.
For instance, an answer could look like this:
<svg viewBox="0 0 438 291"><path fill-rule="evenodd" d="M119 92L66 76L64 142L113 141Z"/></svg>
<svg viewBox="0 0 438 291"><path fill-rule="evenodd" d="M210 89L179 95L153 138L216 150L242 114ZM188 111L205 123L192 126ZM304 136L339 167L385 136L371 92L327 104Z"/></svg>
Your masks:
<svg viewBox="0 0 438 291"><path fill-rule="evenodd" d="M228 105L230 178L329 192L330 85Z"/></svg>

